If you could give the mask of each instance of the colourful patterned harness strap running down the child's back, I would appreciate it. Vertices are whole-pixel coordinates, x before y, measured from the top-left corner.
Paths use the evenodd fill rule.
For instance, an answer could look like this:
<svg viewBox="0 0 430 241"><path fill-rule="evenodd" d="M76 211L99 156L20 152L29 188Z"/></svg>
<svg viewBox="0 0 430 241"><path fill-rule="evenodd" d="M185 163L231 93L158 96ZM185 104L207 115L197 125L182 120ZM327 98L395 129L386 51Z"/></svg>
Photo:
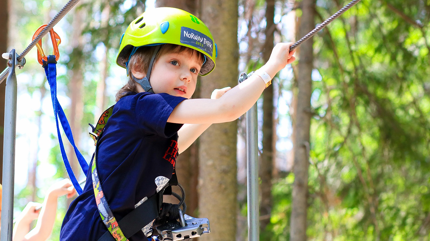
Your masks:
<svg viewBox="0 0 430 241"><path fill-rule="evenodd" d="M94 144L96 146L95 148L95 154L94 154L94 160L91 165L91 177L92 177L92 187L94 189L94 196L95 196L95 202L97 203L97 209L100 213L101 220L103 220L104 225L106 225L107 229L111 233L111 235L115 238L117 241L128 241L128 239L124 236L123 231L120 229L120 226L118 225L117 219L114 217L114 214L112 214L111 208L107 204L107 200L104 197L103 189L101 188L100 179L98 178L98 172L97 172L97 165L96 165L96 159L97 159L97 140L101 136L101 133L103 133L104 126L107 123L107 120L112 115L112 111L114 110L114 105L112 105L110 108L105 110L103 114L101 114L100 118L98 119L98 122L95 127L92 127L92 132L89 133L91 138L94 140Z"/></svg>

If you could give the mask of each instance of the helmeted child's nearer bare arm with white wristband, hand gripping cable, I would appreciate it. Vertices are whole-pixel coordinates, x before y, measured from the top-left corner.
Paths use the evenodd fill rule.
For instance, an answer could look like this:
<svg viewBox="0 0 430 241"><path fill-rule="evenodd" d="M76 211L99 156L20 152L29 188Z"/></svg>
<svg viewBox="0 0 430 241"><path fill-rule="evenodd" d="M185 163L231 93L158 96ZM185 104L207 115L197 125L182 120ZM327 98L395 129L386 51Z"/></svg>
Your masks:
<svg viewBox="0 0 430 241"><path fill-rule="evenodd" d="M269 61L260 68L270 77L295 60L293 43L278 43L272 50ZM211 124L234 121L257 102L266 85L258 75L251 75L219 99L186 99L170 114L168 122L182 124Z"/></svg>

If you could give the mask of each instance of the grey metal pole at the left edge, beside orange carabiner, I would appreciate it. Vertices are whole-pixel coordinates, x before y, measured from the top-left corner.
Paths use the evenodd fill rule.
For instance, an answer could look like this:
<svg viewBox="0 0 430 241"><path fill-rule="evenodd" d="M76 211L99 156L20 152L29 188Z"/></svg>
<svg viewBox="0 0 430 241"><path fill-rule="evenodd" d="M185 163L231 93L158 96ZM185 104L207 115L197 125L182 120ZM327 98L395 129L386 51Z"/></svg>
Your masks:
<svg viewBox="0 0 430 241"><path fill-rule="evenodd" d="M9 75L6 79L6 96L4 110L4 144L3 144L3 198L1 212L1 241L12 241L13 220L13 181L15 178L15 130L16 130L16 83L15 49L9 55Z"/></svg>

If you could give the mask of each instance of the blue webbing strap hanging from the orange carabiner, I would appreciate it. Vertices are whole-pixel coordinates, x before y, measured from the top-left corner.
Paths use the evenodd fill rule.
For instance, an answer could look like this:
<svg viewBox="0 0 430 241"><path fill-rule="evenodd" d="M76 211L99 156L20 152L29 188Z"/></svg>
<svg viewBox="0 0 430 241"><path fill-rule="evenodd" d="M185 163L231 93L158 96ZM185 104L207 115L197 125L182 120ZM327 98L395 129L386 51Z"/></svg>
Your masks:
<svg viewBox="0 0 430 241"><path fill-rule="evenodd" d="M52 100L52 107L54 109L54 117L55 117L55 124L57 126L57 136L58 136L58 142L60 145L61 150L61 157L63 158L64 166L66 167L66 171L69 175L69 178L75 187L77 193L80 195L82 194L82 188L80 187L78 181L76 180L76 177L73 173L73 170L70 166L70 163L67 159L66 152L64 150L63 141L61 139L61 133L60 128L58 125L58 119L60 119L61 127L64 130L64 133L67 136L67 139L69 140L70 144L73 146L75 154L77 156L77 159L79 161L79 165L81 166L83 173L87 175L88 173L88 163L83 158L80 151L77 149L75 142L73 140L72 131L69 125L69 122L66 118L66 115L64 114L63 108L61 108L60 103L57 99L57 69L56 69L56 61L54 55L48 56L48 61L43 60L43 68L45 69L46 78L49 83L49 87L51 88L51 100Z"/></svg>

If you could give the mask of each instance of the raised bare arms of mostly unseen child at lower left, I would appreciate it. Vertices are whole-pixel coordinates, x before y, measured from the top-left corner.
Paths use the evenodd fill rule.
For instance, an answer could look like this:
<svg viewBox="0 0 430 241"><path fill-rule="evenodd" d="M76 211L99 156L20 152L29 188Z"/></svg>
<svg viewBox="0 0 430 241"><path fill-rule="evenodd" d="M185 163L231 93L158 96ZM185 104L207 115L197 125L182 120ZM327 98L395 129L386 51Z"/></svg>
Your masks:
<svg viewBox="0 0 430 241"><path fill-rule="evenodd" d="M1 190L1 185L0 185ZM12 232L13 241L45 241L51 235L57 212L57 199L67 195L74 196L74 189L69 179L63 179L49 187L43 204L29 202L19 217L16 219ZM1 195L0 195L1 201ZM1 203L1 202L0 202ZM40 208L42 207L42 208ZM30 223L37 219L36 227L30 231Z"/></svg>

